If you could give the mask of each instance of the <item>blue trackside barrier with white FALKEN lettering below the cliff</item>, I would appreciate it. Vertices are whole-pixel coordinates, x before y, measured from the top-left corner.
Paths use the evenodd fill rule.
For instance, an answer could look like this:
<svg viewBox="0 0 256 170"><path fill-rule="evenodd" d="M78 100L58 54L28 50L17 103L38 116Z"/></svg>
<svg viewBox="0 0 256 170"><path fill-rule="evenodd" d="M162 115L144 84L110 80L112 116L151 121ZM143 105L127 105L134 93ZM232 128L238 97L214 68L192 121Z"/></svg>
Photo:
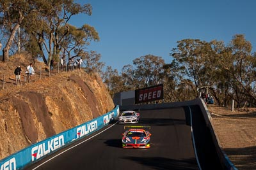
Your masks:
<svg viewBox="0 0 256 170"><path fill-rule="evenodd" d="M68 146L72 142L102 129L102 127L108 125L111 120L115 120L115 118L118 117L118 114L119 106L116 106L112 111L109 111L90 122L68 129L67 131L56 134L51 138L44 139L43 141L28 146L19 152L13 153L12 155L0 160L0 170L22 169L29 164L33 164L36 161L47 157L51 153L56 152L60 148Z"/></svg>

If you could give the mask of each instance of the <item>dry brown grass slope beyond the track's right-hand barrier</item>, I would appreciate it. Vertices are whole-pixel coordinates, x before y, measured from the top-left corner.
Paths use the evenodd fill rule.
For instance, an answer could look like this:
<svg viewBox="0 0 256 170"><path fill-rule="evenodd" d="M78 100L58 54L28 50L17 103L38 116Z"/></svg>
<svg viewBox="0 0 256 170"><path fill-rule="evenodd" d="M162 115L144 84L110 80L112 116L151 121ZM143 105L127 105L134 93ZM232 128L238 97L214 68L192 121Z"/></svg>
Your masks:
<svg viewBox="0 0 256 170"><path fill-rule="evenodd" d="M221 146L239 170L256 169L256 108L246 110L208 105Z"/></svg>

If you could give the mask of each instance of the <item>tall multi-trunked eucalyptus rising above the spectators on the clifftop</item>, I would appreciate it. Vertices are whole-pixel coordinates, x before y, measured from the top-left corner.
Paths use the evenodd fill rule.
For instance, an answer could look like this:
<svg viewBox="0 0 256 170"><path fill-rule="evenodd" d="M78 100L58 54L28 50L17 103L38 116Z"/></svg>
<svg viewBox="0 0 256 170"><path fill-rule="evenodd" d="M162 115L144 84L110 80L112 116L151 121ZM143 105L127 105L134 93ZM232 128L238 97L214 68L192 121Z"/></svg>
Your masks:
<svg viewBox="0 0 256 170"><path fill-rule="evenodd" d="M92 6L81 5L72 0L41 0L37 5L37 8L42 8L40 15L33 15L33 22L26 22L26 29L37 39L45 64L49 63L52 57L59 59L64 48L66 52L76 51L74 45L77 45L81 35L86 36L86 31L82 31L82 27L79 32L79 28L69 22L74 15L92 15ZM73 44L67 45L65 41ZM79 43L85 45L82 41Z"/></svg>

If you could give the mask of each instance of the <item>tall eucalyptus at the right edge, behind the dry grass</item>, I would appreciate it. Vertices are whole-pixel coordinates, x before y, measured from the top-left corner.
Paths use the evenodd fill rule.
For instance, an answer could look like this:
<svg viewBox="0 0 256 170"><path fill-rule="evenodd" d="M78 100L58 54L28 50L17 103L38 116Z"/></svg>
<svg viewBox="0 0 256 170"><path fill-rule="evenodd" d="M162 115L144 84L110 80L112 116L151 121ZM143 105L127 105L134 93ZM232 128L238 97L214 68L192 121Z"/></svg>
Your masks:
<svg viewBox="0 0 256 170"><path fill-rule="evenodd" d="M237 101L238 106L244 101L256 101L256 57L251 53L250 41L246 41L242 34L236 34L227 48L229 52L220 57L219 63L228 73L232 87L230 97Z"/></svg>

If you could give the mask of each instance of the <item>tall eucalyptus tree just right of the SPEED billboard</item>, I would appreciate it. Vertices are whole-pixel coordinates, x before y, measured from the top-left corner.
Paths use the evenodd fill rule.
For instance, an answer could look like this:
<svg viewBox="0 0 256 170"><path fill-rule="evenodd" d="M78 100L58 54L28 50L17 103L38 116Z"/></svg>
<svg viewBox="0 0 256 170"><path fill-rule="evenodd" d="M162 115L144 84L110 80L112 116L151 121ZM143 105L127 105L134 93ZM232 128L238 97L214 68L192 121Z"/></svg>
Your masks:
<svg viewBox="0 0 256 170"><path fill-rule="evenodd" d="M187 82L189 86L191 86L190 81L194 83L193 95L197 96L197 89L209 83L207 71L210 69L206 63L211 55L211 48L207 42L200 39L183 39L177 43L177 48L173 48L170 55L180 64L180 67L183 67L184 83Z"/></svg>

